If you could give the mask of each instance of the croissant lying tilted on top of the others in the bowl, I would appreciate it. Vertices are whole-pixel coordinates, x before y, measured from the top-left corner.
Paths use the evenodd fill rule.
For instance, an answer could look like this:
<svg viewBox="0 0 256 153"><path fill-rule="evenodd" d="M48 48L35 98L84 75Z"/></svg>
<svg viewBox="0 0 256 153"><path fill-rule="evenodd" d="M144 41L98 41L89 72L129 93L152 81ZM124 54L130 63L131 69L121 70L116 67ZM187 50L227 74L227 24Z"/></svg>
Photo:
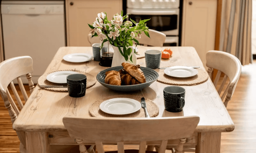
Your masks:
<svg viewBox="0 0 256 153"><path fill-rule="evenodd" d="M122 63L125 71L127 71L131 76L135 77L140 83L146 82L146 77L143 71L140 69L140 65L133 65L130 63Z"/></svg>

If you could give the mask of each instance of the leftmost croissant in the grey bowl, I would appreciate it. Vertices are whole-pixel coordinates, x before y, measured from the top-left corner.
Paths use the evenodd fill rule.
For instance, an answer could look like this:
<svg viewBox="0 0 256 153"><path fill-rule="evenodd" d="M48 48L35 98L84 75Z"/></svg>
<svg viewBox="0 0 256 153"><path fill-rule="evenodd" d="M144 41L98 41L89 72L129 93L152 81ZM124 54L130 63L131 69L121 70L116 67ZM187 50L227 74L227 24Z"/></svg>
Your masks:
<svg viewBox="0 0 256 153"><path fill-rule="evenodd" d="M118 71L107 71L105 73L105 83L112 85L121 85L121 77Z"/></svg>

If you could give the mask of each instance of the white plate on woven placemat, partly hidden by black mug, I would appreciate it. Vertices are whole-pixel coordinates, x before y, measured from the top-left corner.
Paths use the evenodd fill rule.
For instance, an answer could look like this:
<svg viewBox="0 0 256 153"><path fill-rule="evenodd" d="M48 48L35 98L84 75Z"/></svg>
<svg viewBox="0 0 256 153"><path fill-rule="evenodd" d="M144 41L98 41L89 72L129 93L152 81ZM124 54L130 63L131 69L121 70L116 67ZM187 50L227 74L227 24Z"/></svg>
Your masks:
<svg viewBox="0 0 256 153"><path fill-rule="evenodd" d="M76 73L74 71L57 71L46 76L46 79L54 83L67 83L67 76Z"/></svg>

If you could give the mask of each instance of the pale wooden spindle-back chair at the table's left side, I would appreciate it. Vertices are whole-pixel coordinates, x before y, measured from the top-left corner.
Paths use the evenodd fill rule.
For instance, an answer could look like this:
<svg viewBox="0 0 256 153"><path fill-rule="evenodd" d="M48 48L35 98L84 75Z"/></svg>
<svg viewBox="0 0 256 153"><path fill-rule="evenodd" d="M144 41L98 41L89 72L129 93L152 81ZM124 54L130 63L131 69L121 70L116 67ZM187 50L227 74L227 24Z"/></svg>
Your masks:
<svg viewBox="0 0 256 153"><path fill-rule="evenodd" d="M34 90L35 86L31 80L31 73L33 72L33 60L29 56L15 57L5 60L0 63L0 94L4 101L4 105L7 108L11 117L11 122L14 123L21 109L23 108L24 101L28 100L28 94L24 88L23 82L20 76L26 75L30 88L30 93ZM18 94L13 80L17 79L21 93ZM10 85L15 99L12 98L8 90ZM12 93L12 92L11 92ZM24 99L24 100L23 100ZM18 104L18 105L16 105ZM25 132L16 131L20 140L20 153L26 153L26 136ZM50 145L50 152L79 152L78 145Z"/></svg>

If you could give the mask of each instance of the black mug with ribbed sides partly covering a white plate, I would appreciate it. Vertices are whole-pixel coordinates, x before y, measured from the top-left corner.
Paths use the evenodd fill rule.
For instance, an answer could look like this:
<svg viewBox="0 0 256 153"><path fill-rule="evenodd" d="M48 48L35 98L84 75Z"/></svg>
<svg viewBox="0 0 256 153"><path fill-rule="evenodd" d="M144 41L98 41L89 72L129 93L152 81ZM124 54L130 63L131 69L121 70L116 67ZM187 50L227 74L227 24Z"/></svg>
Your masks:
<svg viewBox="0 0 256 153"><path fill-rule="evenodd" d="M71 97L82 97L86 90L86 75L72 74L67 76L68 94Z"/></svg>

